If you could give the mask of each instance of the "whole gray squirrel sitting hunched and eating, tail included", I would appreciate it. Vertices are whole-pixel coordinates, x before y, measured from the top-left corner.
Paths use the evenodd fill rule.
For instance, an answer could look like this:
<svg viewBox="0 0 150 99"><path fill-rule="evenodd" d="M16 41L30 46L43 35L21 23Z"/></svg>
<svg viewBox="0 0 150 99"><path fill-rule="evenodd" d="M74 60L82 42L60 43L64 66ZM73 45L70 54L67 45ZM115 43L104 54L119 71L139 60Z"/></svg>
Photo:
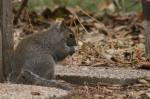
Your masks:
<svg viewBox="0 0 150 99"><path fill-rule="evenodd" d="M55 65L75 52L75 35L59 20L45 32L34 33L20 41L12 59L8 80L70 89L69 84L55 80Z"/></svg>

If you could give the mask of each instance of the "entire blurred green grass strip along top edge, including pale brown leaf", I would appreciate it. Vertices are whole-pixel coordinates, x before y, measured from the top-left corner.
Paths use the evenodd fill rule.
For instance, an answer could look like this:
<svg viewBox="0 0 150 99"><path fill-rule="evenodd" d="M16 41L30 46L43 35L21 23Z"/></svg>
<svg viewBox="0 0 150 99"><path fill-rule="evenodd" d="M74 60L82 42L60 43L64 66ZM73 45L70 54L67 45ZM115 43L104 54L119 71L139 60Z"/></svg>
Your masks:
<svg viewBox="0 0 150 99"><path fill-rule="evenodd" d="M140 0L29 0L30 10L54 9L56 6L81 7L84 10L96 12L110 11L141 11Z"/></svg>

